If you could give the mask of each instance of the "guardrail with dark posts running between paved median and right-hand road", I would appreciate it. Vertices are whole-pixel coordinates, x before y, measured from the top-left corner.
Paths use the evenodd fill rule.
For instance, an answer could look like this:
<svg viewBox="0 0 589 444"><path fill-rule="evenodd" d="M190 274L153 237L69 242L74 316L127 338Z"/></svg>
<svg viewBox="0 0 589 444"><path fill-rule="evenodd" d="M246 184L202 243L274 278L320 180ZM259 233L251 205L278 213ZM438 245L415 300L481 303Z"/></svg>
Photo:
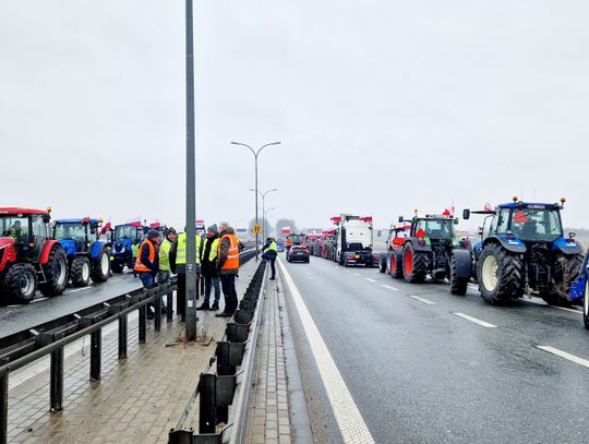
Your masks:
<svg viewBox="0 0 589 444"><path fill-rule="evenodd" d="M217 343L207 372L201 373L184 411L175 429L170 430L169 444L231 444L242 443L252 383L253 363L257 343L257 326L263 310L266 262L259 265L243 298L226 327L224 340ZM260 302L260 303L259 303ZM216 373L208 373L216 363ZM237 371L237 368L240 371ZM239 381L238 381L239 379ZM199 433L187 429L193 405L199 399ZM231 411L229 407L231 406ZM220 432L217 425L227 424ZM229 436L226 432L230 429Z"/></svg>

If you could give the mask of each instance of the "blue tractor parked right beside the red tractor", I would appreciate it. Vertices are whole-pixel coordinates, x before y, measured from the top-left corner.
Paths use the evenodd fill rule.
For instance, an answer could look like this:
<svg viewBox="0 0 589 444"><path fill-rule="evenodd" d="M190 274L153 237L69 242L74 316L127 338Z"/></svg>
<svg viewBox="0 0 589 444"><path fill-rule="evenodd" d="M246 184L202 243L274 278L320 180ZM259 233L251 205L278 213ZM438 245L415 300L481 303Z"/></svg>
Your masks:
<svg viewBox="0 0 589 444"><path fill-rule="evenodd" d="M110 252L107 242L98 239L100 219L58 219L53 238L68 257L70 279L74 287L86 287L89 279L104 283L110 277Z"/></svg>

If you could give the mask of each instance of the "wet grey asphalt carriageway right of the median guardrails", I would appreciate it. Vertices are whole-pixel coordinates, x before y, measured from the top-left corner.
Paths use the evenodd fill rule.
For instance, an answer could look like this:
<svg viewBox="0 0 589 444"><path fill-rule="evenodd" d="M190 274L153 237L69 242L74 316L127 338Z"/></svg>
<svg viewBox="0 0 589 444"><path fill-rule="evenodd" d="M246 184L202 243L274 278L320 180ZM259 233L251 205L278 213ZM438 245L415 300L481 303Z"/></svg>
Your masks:
<svg viewBox="0 0 589 444"><path fill-rule="evenodd" d="M447 284L411 285L317 257L283 264L374 442L589 442L589 361L578 360L589 360L589 333L580 312L538 299L490 307L476 287L457 297ZM344 442L284 281L315 442Z"/></svg>

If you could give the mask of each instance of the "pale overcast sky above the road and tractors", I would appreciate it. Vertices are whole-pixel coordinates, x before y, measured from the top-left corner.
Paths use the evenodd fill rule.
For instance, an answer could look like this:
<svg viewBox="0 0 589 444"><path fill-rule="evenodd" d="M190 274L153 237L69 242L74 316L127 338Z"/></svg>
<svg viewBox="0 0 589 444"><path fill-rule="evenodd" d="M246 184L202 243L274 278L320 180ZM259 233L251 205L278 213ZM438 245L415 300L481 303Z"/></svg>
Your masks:
<svg viewBox="0 0 589 444"><path fill-rule="evenodd" d="M4 1L1 205L182 228L184 2ZM388 226L568 197L589 226L587 0L195 1L197 216ZM476 224L476 221L474 221Z"/></svg>

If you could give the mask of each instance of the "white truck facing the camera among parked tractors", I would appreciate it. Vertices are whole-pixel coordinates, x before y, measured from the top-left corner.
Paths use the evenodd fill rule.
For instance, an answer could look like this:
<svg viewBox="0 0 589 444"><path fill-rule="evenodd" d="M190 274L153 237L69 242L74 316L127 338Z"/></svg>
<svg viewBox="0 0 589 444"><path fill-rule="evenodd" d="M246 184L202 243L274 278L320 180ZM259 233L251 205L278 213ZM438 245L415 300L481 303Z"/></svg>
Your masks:
<svg viewBox="0 0 589 444"><path fill-rule="evenodd" d="M374 232L371 216L341 214L332 217L332 221L337 226L334 259L339 265L378 266L381 254L372 251Z"/></svg>

